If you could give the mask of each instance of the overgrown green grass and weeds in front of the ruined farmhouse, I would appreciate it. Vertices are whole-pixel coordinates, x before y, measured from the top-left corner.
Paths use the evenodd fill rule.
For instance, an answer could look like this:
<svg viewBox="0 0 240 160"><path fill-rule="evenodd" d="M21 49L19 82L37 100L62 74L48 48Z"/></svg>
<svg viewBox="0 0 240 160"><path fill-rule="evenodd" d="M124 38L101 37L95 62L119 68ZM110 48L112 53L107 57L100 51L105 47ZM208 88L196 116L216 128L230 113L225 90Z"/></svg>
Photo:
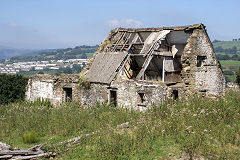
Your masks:
<svg viewBox="0 0 240 160"><path fill-rule="evenodd" d="M0 141L27 148L34 144L24 144L22 135L34 131L38 143L47 141L51 146L95 132L73 149L62 148L57 158L172 159L185 152L190 157L234 160L240 157L239 102L239 91L215 100L168 100L146 112L105 104L83 108L68 103L52 108L48 103L23 102L0 107ZM117 127L124 122L129 122L128 128Z"/></svg>

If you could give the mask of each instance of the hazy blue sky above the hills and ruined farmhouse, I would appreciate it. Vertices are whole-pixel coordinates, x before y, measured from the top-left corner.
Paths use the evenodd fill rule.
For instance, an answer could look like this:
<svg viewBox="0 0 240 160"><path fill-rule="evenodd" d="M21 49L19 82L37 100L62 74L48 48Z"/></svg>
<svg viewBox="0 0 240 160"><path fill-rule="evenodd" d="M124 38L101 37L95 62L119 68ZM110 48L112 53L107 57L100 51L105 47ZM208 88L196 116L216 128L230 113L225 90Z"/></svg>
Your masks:
<svg viewBox="0 0 240 160"><path fill-rule="evenodd" d="M0 46L96 45L116 27L203 23L211 40L240 38L240 0L0 0Z"/></svg>

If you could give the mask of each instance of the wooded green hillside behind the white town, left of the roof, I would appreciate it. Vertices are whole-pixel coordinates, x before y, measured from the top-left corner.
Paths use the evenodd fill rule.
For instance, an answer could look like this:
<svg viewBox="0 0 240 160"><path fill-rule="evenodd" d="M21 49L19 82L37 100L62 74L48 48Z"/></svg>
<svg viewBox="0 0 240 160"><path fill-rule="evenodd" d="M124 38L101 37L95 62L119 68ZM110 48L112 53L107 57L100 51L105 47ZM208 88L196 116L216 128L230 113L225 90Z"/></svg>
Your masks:
<svg viewBox="0 0 240 160"><path fill-rule="evenodd" d="M66 60L76 58L89 58L96 51L96 46L76 46L74 48L42 50L31 54L12 57L10 60L14 62L20 61L44 61L44 60Z"/></svg>

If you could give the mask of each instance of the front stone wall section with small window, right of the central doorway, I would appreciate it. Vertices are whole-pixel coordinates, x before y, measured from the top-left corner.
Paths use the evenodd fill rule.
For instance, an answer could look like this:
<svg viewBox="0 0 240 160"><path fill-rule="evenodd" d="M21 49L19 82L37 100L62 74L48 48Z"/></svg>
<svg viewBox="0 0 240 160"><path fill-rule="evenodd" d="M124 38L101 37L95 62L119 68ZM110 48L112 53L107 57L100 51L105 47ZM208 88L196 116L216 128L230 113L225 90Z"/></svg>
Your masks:
<svg viewBox="0 0 240 160"><path fill-rule="evenodd" d="M121 80L111 87L117 88L117 105L144 109L160 104L167 98L167 87L159 82ZM144 103L138 93L144 94Z"/></svg>

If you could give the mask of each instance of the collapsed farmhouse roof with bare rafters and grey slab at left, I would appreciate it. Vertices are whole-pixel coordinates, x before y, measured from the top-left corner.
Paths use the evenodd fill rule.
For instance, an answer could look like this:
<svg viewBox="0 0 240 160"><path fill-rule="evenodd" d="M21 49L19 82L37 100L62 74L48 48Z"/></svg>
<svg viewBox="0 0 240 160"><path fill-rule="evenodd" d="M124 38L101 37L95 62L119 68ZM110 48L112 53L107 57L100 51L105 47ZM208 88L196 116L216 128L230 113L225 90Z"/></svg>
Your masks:
<svg viewBox="0 0 240 160"><path fill-rule="evenodd" d="M138 68L135 76L130 75L129 78L136 80L143 79L146 70L163 74L163 65L166 72L180 71L181 64L177 59L181 57L193 29L205 30L205 26L116 28L97 49L86 77L90 82L110 84L129 58L132 58L131 64Z"/></svg>

